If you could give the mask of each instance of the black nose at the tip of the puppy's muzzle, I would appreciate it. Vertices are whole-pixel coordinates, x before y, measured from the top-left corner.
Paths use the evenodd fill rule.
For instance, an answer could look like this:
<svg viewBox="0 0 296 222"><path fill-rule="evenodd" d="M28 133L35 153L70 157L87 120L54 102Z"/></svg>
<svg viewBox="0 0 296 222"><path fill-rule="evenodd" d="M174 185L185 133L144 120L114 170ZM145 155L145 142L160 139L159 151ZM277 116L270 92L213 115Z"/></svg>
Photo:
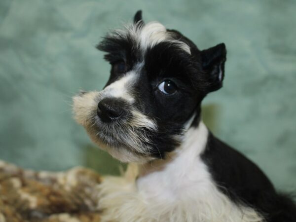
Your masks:
<svg viewBox="0 0 296 222"><path fill-rule="evenodd" d="M98 104L97 114L103 122L111 122L123 116L125 102L117 98L105 98Z"/></svg>

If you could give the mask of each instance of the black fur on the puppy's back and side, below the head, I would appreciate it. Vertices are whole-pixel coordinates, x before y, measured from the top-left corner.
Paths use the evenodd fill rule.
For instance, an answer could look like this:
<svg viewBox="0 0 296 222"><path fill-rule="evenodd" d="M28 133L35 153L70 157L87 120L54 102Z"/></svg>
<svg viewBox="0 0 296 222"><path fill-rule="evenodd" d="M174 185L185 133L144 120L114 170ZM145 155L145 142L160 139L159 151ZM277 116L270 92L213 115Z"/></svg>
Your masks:
<svg viewBox="0 0 296 222"><path fill-rule="evenodd" d="M259 167L240 152L210 134L202 159L232 201L255 208L267 222L296 222L292 199L277 193Z"/></svg>

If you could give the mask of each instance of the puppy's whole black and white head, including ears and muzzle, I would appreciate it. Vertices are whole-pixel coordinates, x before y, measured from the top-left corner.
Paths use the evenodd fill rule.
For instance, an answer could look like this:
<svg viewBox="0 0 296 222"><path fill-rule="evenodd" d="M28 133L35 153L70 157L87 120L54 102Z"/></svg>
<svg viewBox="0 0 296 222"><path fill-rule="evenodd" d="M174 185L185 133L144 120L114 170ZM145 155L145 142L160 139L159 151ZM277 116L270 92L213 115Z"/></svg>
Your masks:
<svg viewBox="0 0 296 222"><path fill-rule="evenodd" d="M74 116L123 162L164 158L198 124L206 94L222 86L224 44L200 51L177 31L144 24L140 11L98 49L107 52L110 78L102 91L74 97Z"/></svg>

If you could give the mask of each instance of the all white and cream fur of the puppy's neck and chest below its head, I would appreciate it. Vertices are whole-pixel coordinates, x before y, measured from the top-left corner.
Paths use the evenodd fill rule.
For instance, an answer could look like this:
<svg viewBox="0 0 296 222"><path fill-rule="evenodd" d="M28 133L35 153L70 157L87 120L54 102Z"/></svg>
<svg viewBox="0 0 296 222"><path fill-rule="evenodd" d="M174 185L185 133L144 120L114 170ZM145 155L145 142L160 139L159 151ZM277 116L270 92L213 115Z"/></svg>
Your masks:
<svg viewBox="0 0 296 222"><path fill-rule="evenodd" d="M253 209L232 203L214 184L200 158L207 138L201 122L166 160L138 166L139 173L106 178L100 185L102 221L261 222Z"/></svg>

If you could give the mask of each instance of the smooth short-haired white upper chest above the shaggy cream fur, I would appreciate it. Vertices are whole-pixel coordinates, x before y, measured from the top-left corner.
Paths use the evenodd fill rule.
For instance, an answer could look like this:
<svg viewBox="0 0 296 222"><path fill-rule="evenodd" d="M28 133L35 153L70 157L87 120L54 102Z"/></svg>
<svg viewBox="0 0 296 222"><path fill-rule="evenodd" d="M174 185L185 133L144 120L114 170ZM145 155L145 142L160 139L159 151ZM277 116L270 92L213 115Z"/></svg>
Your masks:
<svg viewBox="0 0 296 222"><path fill-rule="evenodd" d="M176 161L162 170L140 177L137 187L146 200L164 204L203 201L205 193L218 191L211 182L206 166L199 158L190 163ZM206 201L216 200L207 198Z"/></svg>

